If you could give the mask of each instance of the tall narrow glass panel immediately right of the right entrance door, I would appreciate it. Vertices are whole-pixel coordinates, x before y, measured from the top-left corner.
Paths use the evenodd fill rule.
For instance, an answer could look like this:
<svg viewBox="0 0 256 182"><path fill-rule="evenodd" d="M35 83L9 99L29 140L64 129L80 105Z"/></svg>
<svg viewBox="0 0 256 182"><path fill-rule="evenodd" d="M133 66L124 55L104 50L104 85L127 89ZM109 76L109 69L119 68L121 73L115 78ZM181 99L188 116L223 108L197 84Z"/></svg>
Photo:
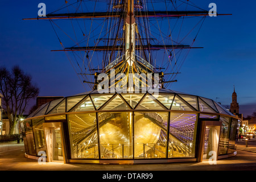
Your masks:
<svg viewBox="0 0 256 182"><path fill-rule="evenodd" d="M220 134L220 146L218 149L218 154L227 154L228 144L229 144L229 117L220 117L221 121L221 134Z"/></svg>

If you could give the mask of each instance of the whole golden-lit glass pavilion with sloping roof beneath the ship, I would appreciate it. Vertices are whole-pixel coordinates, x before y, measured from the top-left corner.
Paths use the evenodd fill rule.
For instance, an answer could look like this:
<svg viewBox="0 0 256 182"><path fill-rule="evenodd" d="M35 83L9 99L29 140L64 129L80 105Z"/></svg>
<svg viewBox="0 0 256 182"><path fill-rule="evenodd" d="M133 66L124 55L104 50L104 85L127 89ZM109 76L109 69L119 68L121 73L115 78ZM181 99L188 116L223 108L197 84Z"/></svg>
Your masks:
<svg viewBox="0 0 256 182"><path fill-rule="evenodd" d="M201 162L236 155L238 118L208 98L97 90L39 107L24 121L28 158L48 162ZM209 151L213 151L210 153Z"/></svg>

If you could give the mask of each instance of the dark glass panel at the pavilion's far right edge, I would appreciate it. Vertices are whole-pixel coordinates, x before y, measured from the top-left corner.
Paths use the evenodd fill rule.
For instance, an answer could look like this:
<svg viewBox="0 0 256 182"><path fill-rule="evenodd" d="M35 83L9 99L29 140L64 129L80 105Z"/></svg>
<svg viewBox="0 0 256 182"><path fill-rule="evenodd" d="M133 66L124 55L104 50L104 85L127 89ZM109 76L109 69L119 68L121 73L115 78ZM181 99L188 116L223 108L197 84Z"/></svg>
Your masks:
<svg viewBox="0 0 256 182"><path fill-rule="evenodd" d="M234 151L236 151L236 148L237 148L237 145L236 145L236 138L238 134L237 124L238 124L238 120L232 118L230 135L229 135L228 154L232 154Z"/></svg>

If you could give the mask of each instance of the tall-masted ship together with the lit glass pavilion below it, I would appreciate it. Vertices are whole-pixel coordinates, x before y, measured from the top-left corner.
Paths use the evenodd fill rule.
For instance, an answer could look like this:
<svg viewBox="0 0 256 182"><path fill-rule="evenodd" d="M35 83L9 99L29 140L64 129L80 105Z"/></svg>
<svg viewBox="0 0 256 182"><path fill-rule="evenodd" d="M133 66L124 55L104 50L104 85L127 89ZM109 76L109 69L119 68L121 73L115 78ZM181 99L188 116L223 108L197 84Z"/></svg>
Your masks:
<svg viewBox="0 0 256 182"><path fill-rule="evenodd" d="M203 48L194 43L208 16L191 1L66 0L28 18L49 21L62 48L52 51L67 55L87 89L42 105L24 121L36 120L35 130L43 131L49 162L200 162L209 151L233 154L234 141L222 129L231 132L237 118L209 98L169 89L189 51ZM194 22L185 26L187 20ZM55 131L63 147L52 142Z"/></svg>

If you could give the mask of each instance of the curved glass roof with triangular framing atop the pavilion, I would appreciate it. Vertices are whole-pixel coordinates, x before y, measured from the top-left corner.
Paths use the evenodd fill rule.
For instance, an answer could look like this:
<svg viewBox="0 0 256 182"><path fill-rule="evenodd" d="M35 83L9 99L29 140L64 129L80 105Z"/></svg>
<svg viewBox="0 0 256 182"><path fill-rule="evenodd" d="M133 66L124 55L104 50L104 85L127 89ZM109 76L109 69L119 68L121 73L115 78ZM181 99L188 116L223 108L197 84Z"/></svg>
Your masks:
<svg viewBox="0 0 256 182"><path fill-rule="evenodd" d="M36 109L27 118L40 115L96 110L178 110L200 111L232 115L218 102L170 89L159 89L158 94L150 93L98 93L97 90L80 93L48 102Z"/></svg>

